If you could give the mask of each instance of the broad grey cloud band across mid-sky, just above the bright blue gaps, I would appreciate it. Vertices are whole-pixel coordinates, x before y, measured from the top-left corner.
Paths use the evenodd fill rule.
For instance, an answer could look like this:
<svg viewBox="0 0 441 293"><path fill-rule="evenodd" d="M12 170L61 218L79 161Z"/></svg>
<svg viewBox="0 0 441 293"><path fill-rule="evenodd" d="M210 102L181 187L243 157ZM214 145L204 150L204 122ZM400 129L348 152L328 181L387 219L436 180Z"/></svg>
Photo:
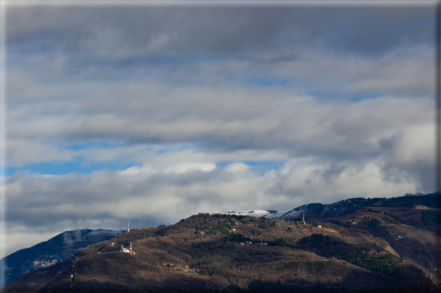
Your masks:
<svg viewBox="0 0 441 293"><path fill-rule="evenodd" d="M200 142L209 149L276 148L291 152L293 157L376 157L386 151L384 146L389 138L383 135L390 129L430 125L433 121L430 98L381 97L341 105L308 96L293 97L290 90L172 89L133 83L109 88L105 88L106 84L98 86L100 91L91 95L86 87L78 97L54 99L50 104L47 99L33 101L31 105L10 103L11 116L16 117L8 125L14 144L11 154L32 153L29 143L24 144L26 138L35 143ZM79 87L72 85L72 88ZM68 87L59 89L66 90ZM22 151L18 151L18 142ZM43 146L39 145L41 149ZM66 159L76 156L71 150L54 150L39 156L57 155ZM11 163L14 164L14 159Z"/></svg>

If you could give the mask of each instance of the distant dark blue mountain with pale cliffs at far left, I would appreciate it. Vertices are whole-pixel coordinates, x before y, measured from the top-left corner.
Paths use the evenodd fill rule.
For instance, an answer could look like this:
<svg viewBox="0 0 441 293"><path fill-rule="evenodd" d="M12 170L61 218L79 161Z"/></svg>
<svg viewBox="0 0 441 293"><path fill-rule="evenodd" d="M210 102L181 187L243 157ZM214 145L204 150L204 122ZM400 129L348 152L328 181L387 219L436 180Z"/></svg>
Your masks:
<svg viewBox="0 0 441 293"><path fill-rule="evenodd" d="M5 284L34 269L68 260L80 249L109 240L119 233L102 229L66 231L32 247L20 249L0 260L0 264L6 264L0 268L6 276ZM0 274L3 272L0 271Z"/></svg>

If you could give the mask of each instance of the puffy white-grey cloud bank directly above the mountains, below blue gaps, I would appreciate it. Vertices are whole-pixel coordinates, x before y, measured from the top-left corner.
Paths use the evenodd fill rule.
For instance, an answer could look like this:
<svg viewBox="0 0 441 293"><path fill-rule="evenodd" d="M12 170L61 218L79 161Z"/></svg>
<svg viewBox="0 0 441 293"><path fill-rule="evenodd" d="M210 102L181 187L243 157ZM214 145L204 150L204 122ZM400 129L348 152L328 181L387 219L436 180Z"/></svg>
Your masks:
<svg viewBox="0 0 441 293"><path fill-rule="evenodd" d="M174 223L201 210L284 210L350 197L399 196L415 192L417 184L385 180L380 160L334 168L307 158L288 161L278 171L263 176L243 163L220 168L188 166L172 173L152 172L146 167L82 176L17 173L7 183L9 225L27 227L29 233L33 229L46 231L44 235L50 233L46 226L63 231L101 228L100 223L108 223L107 228L121 229L126 221L138 221L141 228L158 222ZM81 226L91 223L93 226Z"/></svg>

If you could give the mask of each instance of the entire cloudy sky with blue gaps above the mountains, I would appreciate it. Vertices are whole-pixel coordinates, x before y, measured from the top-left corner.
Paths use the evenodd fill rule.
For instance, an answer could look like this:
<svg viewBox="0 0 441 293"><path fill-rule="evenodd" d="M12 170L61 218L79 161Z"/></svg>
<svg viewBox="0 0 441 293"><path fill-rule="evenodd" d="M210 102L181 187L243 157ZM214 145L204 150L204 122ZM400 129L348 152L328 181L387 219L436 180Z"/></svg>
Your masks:
<svg viewBox="0 0 441 293"><path fill-rule="evenodd" d="M434 5L13 5L6 254L433 192Z"/></svg>

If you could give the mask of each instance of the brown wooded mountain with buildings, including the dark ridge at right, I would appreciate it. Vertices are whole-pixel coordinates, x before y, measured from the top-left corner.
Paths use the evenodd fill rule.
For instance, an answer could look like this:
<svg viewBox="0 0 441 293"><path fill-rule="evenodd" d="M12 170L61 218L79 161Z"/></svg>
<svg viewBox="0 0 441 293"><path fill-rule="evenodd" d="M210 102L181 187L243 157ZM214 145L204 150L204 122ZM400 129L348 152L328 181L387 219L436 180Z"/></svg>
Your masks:
<svg viewBox="0 0 441 293"><path fill-rule="evenodd" d="M294 209L305 211L307 224L246 213L193 215L89 245L2 289L70 292L74 265L75 291L85 293L382 292L381 276L410 284L413 272L435 259L435 199L350 199ZM132 253L121 252L130 241Z"/></svg>

